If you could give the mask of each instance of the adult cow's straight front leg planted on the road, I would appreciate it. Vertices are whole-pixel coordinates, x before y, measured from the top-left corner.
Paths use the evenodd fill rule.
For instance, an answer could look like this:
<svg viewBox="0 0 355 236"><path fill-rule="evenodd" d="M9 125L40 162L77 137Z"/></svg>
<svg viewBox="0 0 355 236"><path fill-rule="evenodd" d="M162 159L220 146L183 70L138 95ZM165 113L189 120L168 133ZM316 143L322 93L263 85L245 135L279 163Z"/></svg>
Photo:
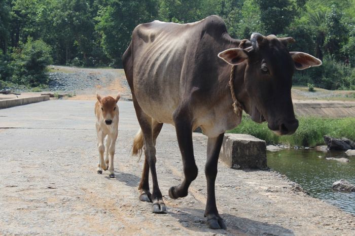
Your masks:
<svg viewBox="0 0 355 236"><path fill-rule="evenodd" d="M207 161L205 175L207 180L207 202L204 216L207 217L207 225L212 229L226 229L226 224L218 214L215 195L215 181L217 176L218 157L220 154L224 133L217 138L208 138Z"/></svg>

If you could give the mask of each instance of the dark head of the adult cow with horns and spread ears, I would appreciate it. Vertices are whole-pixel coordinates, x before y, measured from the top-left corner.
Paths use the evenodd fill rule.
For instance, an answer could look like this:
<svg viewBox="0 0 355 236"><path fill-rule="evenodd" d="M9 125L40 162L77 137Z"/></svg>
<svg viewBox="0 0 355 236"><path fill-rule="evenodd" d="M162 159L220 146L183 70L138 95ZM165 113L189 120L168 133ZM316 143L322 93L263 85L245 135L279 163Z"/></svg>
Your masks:
<svg viewBox="0 0 355 236"><path fill-rule="evenodd" d="M277 134L292 134L298 127L291 99L292 76L295 69L321 65L322 61L307 53L289 52L287 44L295 42L291 37L264 37L253 33L250 41L249 48L227 49L218 56L231 65L246 63L247 98L240 101L245 112L256 122L266 120Z"/></svg>

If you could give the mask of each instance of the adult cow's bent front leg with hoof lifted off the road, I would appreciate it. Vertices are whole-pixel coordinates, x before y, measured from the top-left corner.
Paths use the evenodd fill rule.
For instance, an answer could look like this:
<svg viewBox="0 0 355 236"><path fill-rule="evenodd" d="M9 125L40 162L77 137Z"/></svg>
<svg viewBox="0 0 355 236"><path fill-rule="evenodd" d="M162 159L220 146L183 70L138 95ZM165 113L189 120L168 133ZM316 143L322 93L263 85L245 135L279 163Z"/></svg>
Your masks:
<svg viewBox="0 0 355 236"><path fill-rule="evenodd" d="M187 196L191 182L197 177L197 166L195 163L193 145L192 145L192 128L189 119L184 115L175 117L175 129L177 142L179 143L180 152L184 166L184 180L178 186L169 189L169 196L173 199Z"/></svg>

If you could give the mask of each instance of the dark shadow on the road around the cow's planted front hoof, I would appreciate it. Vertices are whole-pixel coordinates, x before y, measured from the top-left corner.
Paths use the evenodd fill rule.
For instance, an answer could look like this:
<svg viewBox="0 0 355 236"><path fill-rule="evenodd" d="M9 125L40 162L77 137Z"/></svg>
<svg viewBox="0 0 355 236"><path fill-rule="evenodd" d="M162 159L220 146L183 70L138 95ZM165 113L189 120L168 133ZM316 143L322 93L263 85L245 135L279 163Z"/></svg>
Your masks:
<svg viewBox="0 0 355 236"><path fill-rule="evenodd" d="M180 210L178 213L168 212L172 217L179 220L182 226L201 232L216 232L221 230L209 229L206 221L200 220L203 217L204 210L192 208L175 208ZM290 229L283 228L279 225L268 224L247 218L237 217L230 214L221 214L225 220L228 233L233 235L283 235L294 236L294 232Z"/></svg>

